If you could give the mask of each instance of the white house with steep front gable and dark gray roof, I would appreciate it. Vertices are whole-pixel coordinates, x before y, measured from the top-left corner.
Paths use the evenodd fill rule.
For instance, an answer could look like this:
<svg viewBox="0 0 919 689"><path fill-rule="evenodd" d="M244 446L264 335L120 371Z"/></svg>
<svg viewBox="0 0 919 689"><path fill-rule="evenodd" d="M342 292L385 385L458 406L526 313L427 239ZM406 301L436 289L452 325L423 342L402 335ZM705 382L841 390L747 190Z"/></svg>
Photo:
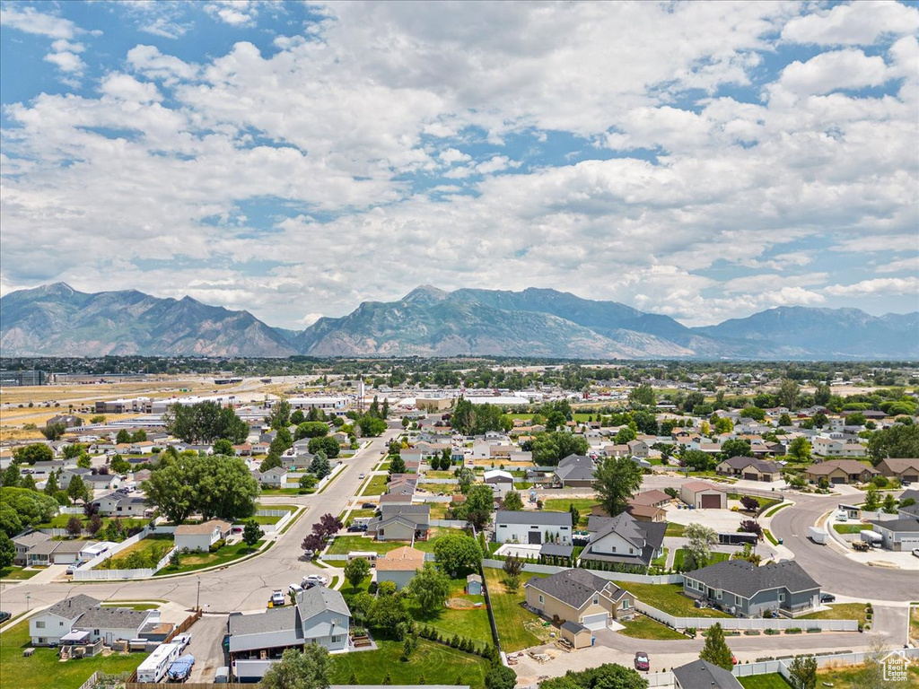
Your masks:
<svg viewBox="0 0 919 689"><path fill-rule="evenodd" d="M664 552L666 522L640 522L628 512L615 517L591 516L590 542L581 551L588 562L614 562L645 568Z"/></svg>

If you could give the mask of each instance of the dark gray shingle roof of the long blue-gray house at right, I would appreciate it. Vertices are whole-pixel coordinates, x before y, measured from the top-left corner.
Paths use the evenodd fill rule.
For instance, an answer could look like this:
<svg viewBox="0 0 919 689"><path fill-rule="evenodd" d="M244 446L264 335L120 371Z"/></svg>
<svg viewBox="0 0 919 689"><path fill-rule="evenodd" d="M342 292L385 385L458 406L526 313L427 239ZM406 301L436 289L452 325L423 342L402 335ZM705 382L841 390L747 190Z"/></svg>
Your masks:
<svg viewBox="0 0 919 689"><path fill-rule="evenodd" d="M732 559L688 572L686 576L710 588L735 593L743 598L782 587L792 593L820 588L820 584L813 581L811 575L794 560L757 567L745 560Z"/></svg>

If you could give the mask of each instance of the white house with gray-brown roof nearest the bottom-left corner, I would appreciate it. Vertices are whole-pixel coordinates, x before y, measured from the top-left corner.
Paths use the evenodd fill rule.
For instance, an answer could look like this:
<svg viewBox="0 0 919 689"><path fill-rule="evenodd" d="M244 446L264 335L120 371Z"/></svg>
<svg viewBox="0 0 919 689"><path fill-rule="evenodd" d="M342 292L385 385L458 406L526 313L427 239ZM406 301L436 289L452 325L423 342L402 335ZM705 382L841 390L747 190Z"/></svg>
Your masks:
<svg viewBox="0 0 919 689"><path fill-rule="evenodd" d="M80 593L29 618L28 636L33 646L93 643L100 638L110 646L116 639L137 638L142 627L159 616L157 610L102 607L95 598Z"/></svg>

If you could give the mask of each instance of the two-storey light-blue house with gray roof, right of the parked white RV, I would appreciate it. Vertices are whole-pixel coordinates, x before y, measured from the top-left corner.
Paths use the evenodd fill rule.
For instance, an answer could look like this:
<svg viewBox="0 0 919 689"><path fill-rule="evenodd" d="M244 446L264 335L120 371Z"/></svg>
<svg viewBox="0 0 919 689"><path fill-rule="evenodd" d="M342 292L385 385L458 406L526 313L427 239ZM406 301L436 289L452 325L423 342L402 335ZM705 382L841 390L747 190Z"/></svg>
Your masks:
<svg viewBox="0 0 919 689"><path fill-rule="evenodd" d="M317 643L329 650L345 650L351 611L341 593L312 586L297 593L295 603L260 613L231 613L227 620L233 661L280 659L285 649Z"/></svg>

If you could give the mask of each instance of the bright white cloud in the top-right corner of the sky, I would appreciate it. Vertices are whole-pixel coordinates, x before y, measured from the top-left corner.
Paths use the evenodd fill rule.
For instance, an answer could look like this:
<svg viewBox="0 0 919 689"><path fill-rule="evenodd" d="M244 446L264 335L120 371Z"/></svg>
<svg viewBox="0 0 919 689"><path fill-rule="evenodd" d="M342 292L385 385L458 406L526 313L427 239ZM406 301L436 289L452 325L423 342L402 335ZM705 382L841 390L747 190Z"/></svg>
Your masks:
<svg viewBox="0 0 919 689"><path fill-rule="evenodd" d="M795 17L782 39L817 45L869 45L880 36L904 36L919 30L919 10L897 2L852 2L806 17Z"/></svg>

